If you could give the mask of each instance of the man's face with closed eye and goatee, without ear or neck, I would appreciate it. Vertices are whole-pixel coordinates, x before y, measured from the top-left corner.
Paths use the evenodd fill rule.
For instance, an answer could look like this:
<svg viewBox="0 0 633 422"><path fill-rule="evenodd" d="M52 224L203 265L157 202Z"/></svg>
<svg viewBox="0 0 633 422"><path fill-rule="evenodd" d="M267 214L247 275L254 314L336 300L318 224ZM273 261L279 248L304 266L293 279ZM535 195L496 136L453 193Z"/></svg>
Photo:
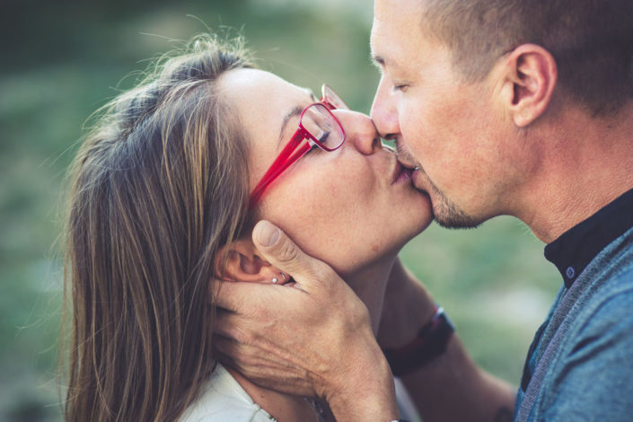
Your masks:
<svg viewBox="0 0 633 422"><path fill-rule="evenodd" d="M401 163L419 167L418 189L445 226L474 226L507 212L521 178L508 146L500 84L463 83L451 52L422 31L423 0L375 0L371 44L382 78L372 119L396 141ZM491 75L494 72L491 72Z"/></svg>

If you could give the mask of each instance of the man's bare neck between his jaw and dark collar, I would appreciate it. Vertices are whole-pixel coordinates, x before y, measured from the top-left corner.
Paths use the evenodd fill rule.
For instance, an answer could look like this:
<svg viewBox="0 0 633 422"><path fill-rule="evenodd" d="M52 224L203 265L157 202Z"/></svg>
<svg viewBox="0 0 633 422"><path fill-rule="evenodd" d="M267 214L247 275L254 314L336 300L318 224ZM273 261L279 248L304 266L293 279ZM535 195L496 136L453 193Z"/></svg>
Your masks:
<svg viewBox="0 0 633 422"><path fill-rule="evenodd" d="M567 110L549 133L516 213L546 243L633 189L633 105L612 119Z"/></svg>

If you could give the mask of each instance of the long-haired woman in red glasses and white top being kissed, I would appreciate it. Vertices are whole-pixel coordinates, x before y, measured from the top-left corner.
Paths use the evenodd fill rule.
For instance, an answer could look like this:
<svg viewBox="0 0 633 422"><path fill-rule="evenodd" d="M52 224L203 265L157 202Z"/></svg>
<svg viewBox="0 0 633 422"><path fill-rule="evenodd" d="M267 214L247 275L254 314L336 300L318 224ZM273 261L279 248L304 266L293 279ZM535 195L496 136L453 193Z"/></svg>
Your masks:
<svg viewBox="0 0 633 422"><path fill-rule="evenodd" d="M428 199L370 119L251 68L240 48L198 37L156 69L111 101L75 159L66 419L327 419L216 364L215 280L291 288L251 242L266 218L345 277L375 331Z"/></svg>

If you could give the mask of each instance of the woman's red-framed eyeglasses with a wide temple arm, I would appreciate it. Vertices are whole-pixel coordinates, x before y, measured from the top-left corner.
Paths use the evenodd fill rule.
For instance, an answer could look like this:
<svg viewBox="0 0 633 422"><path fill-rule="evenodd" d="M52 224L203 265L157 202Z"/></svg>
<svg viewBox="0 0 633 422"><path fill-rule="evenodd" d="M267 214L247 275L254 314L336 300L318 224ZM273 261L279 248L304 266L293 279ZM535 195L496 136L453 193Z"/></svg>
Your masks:
<svg viewBox="0 0 633 422"><path fill-rule="evenodd" d="M349 108L347 107L347 104L344 101L342 101L340 97L338 97L338 95L335 92L333 92L328 85L323 84L321 86L321 94L322 94L322 97L319 102L313 102L312 104L307 106L305 109L303 109L303 111L301 112L301 116L299 117L299 127L296 129L295 134L290 138L290 141L286 144L284 149L281 150L281 152L277 155L277 158L275 159L275 161L272 164L270 164L268 171L266 171L264 176L262 176L261 180L259 180L259 183L257 184L257 186L255 186L255 188L252 190L251 199L249 201L250 209L252 209L259 203L259 200L261 199L266 189L268 189L268 186L274 180L276 180L277 177L282 172L284 172L292 164L296 163L296 161L299 160L305 153L310 151L310 149L312 148L312 145L310 144L310 142L306 142L302 144L304 139L310 139L312 140L312 142L314 142L316 145L319 145L325 151L330 151L330 152L337 150L338 148L340 148L340 145L343 145L343 143L345 142L345 138L346 138L345 129L343 129L343 126L340 124L336 116L332 114L331 110L337 110L337 109L349 110ZM340 128L340 131L343 134L343 139L341 140L340 144L338 144L338 146L336 146L335 148L329 148L323 145L317 138L312 136L312 134L308 132L308 130L305 127L303 127L303 124L302 124L303 114L305 113L306 110L310 109L313 106L324 107L324 109L330 114L330 116L338 124L338 127Z"/></svg>

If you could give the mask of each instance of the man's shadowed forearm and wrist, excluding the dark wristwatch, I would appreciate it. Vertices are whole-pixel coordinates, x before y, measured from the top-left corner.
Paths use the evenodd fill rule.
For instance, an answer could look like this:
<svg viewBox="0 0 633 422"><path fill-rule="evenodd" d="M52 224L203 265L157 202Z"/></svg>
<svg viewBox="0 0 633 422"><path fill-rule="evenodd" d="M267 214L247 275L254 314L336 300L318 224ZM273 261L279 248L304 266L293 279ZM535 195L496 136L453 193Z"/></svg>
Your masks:
<svg viewBox="0 0 633 422"><path fill-rule="evenodd" d="M435 303L424 286L397 261L384 299L379 344L382 348L408 344L434 312ZM513 418L515 390L479 369L454 334L443 355L401 380L425 422Z"/></svg>

